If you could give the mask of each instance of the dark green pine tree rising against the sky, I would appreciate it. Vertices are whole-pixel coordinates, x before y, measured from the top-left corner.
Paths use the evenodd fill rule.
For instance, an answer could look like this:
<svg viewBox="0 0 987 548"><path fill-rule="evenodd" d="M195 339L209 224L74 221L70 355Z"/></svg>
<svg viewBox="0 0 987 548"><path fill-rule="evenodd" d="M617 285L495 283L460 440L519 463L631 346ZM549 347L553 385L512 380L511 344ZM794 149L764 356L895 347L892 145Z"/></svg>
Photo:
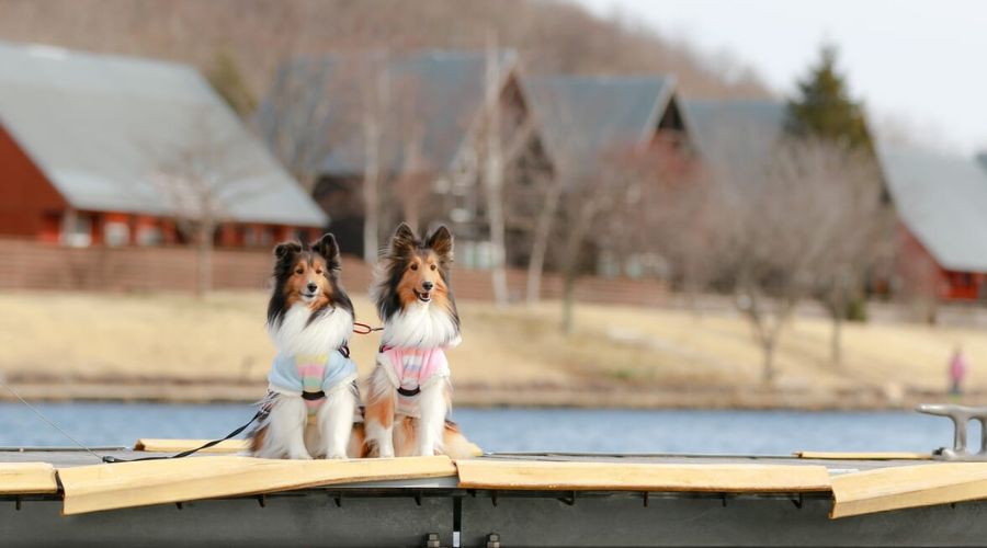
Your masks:
<svg viewBox="0 0 987 548"><path fill-rule="evenodd" d="M818 64L798 82L798 96L789 101L787 129L795 136L871 151L863 109L850 98L846 78L837 72L836 64L836 48L822 46Z"/></svg>

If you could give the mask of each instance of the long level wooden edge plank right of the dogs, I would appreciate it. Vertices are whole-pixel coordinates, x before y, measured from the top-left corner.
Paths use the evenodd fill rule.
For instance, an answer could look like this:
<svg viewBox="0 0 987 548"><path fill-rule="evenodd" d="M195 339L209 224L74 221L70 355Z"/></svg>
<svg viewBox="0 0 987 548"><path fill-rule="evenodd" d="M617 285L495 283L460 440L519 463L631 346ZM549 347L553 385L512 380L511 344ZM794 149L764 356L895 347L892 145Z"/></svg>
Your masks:
<svg viewBox="0 0 987 548"><path fill-rule="evenodd" d="M469 489L807 492L829 491L824 466L662 465L460 460Z"/></svg>

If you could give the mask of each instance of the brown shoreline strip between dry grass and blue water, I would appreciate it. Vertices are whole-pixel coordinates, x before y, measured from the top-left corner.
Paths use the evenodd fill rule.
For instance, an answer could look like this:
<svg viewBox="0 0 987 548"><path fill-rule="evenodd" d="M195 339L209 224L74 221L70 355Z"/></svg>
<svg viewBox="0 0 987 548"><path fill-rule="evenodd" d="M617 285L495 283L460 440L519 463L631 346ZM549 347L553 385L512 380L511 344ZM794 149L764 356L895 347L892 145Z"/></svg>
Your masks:
<svg viewBox="0 0 987 548"><path fill-rule="evenodd" d="M25 400L42 402L111 401L193 403L251 403L259 401L265 381L231 379L154 378L107 381L81 378L18 378L9 385ZM0 401L16 401L0 392ZM987 404L987 395L953 398L944 392L906 390L888 395L873 387L840 390L798 390L758 386L651 386L586 384L582 386L457 385L453 404L468 408L654 409L654 410L787 410L895 411L919 403Z"/></svg>

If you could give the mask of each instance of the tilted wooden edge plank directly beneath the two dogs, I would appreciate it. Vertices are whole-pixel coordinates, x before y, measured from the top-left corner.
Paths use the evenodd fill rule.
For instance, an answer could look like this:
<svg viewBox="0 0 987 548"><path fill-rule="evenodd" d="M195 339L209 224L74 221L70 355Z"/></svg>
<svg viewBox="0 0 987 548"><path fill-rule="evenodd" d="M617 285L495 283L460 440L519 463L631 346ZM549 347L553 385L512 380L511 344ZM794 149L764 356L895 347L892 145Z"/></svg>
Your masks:
<svg viewBox="0 0 987 548"><path fill-rule="evenodd" d="M449 457L274 460L207 456L58 470L63 513L257 494L358 481L455 476Z"/></svg>

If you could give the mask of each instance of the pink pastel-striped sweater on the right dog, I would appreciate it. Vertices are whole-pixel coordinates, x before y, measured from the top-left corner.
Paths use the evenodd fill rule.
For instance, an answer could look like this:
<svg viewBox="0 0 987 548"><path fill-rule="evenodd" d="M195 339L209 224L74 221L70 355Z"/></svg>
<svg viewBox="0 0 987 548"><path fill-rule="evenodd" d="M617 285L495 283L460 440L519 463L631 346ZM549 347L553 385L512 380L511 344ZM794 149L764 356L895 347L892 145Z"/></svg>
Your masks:
<svg viewBox="0 0 987 548"><path fill-rule="evenodd" d="M395 414L420 418L418 395L433 383L449 379L449 361L439 349L393 349L381 346L377 365L397 389Z"/></svg>

